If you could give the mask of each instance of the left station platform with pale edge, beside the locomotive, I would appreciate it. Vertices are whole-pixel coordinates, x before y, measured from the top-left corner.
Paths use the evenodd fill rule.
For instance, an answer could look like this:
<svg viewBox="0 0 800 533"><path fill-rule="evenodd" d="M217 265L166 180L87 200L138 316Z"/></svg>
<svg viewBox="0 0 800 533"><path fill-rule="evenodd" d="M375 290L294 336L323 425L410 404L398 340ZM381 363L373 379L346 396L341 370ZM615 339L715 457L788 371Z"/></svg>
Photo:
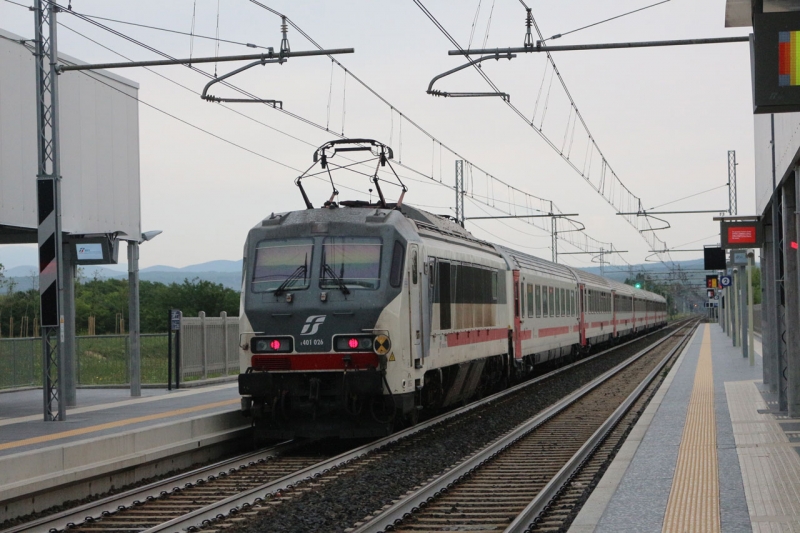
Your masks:
<svg viewBox="0 0 800 533"><path fill-rule="evenodd" d="M45 422L40 389L0 393L0 522L60 503L64 495L44 496L51 487L82 498L213 459L249 429L236 382L138 398L78 389L77 399L66 420Z"/></svg>

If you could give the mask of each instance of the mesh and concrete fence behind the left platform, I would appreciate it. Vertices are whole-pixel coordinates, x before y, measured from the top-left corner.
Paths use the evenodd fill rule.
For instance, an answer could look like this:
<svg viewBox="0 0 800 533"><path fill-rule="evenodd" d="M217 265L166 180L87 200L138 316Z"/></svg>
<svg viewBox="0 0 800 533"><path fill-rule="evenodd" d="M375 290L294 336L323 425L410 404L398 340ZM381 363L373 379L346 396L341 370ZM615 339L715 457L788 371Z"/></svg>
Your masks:
<svg viewBox="0 0 800 533"><path fill-rule="evenodd" d="M239 319L184 317L181 324L181 382L239 373ZM142 384L167 383L168 336L143 334ZM78 386L127 385L130 351L128 335L87 335L76 339ZM42 384L42 340L0 339L0 389Z"/></svg>

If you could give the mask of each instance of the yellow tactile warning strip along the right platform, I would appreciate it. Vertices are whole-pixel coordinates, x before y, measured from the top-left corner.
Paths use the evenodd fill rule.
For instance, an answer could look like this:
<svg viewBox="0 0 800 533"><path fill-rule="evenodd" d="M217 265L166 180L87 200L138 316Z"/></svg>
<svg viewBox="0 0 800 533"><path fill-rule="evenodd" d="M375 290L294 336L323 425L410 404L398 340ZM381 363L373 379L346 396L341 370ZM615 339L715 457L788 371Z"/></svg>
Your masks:
<svg viewBox="0 0 800 533"><path fill-rule="evenodd" d="M717 425L711 332L705 325L678 464L664 515L664 533L720 531Z"/></svg>

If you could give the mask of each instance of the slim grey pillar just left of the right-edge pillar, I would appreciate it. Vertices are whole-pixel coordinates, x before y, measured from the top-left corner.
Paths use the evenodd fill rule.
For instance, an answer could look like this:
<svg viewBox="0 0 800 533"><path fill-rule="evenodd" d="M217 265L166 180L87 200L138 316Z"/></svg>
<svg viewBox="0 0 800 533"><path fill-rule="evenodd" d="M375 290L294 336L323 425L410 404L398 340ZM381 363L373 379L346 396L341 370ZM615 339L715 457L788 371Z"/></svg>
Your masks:
<svg viewBox="0 0 800 533"><path fill-rule="evenodd" d="M766 214L769 225L764 226L764 246L761 248L761 287L763 299L761 300L761 355L764 385L769 386L772 393L778 392L777 357L775 355L775 322L778 317L775 313L775 279L773 276L772 262L772 218Z"/></svg>

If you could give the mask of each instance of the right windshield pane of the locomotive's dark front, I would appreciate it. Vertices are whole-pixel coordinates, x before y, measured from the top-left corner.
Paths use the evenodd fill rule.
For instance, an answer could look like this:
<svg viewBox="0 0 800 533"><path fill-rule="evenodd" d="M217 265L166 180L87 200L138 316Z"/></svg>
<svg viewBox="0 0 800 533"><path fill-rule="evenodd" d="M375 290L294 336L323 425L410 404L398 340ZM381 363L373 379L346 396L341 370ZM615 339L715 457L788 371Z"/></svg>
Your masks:
<svg viewBox="0 0 800 533"><path fill-rule="evenodd" d="M381 247L378 237L326 237L322 242L322 289L377 289Z"/></svg>

